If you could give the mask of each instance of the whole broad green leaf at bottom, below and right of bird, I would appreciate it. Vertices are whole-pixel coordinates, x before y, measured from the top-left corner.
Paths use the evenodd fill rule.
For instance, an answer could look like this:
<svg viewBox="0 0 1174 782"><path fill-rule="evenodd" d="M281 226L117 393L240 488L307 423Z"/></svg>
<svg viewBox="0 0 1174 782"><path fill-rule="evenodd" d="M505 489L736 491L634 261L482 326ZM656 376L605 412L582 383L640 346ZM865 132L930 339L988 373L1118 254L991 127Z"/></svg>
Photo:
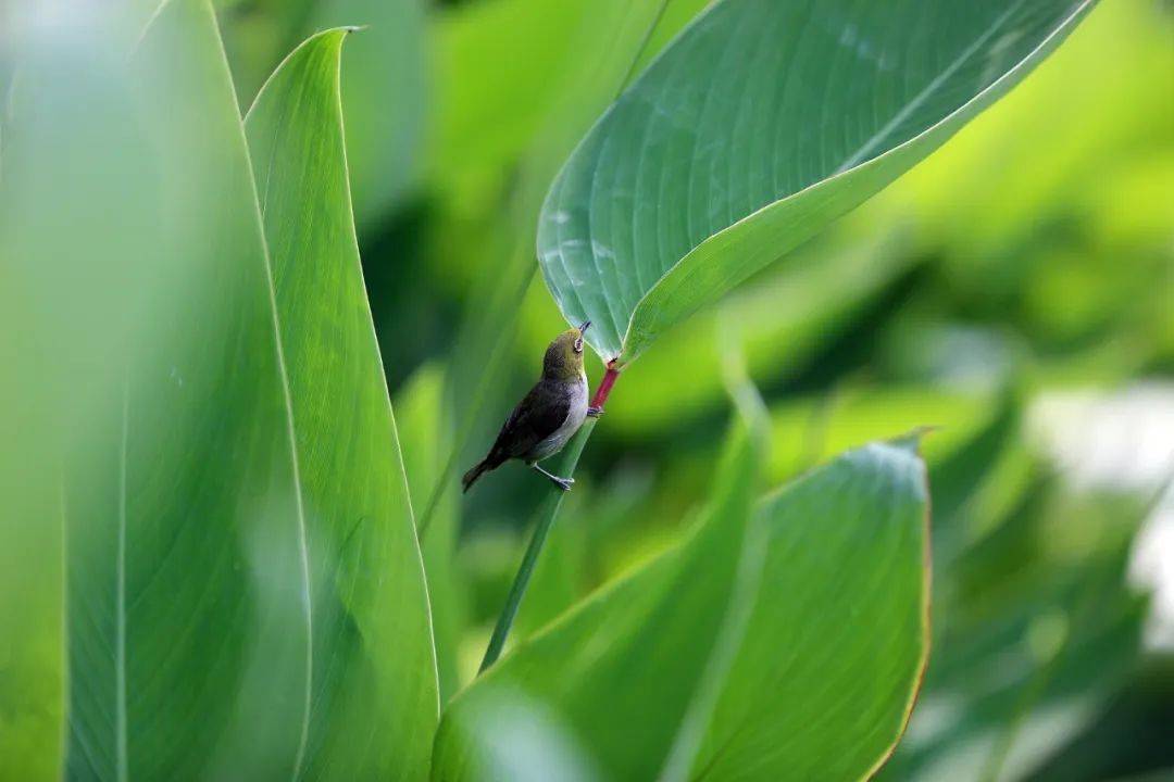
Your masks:
<svg viewBox="0 0 1174 782"><path fill-rule="evenodd" d="M904 444L872 444L751 515L760 458L736 433L687 539L459 695L433 778L506 778L527 747L495 736L519 710L576 739L601 778L856 780L875 769L927 654L922 463Z"/></svg>

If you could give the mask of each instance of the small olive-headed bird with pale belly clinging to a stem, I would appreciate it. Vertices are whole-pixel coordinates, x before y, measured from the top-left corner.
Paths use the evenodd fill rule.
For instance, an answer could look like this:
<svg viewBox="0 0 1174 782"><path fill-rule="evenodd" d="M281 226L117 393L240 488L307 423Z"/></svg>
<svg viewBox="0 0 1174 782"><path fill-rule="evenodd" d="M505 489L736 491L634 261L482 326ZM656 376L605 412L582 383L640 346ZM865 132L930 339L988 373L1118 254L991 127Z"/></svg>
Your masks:
<svg viewBox="0 0 1174 782"><path fill-rule="evenodd" d="M529 389L506 419L488 455L460 480L465 491L483 472L500 467L507 460L520 458L564 491L574 478L560 478L547 472L539 462L559 453L571 435L579 430L588 415L601 410L587 406L587 373L583 372L583 332L568 328L551 342L542 358L542 378Z"/></svg>

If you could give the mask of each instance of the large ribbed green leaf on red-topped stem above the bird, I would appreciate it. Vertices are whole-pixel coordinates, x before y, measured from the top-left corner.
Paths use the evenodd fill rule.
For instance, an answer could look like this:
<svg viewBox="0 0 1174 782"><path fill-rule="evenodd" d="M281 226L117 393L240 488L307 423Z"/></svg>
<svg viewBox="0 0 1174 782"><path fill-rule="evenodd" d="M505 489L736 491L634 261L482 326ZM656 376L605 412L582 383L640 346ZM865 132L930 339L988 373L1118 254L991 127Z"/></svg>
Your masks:
<svg viewBox="0 0 1174 782"><path fill-rule="evenodd" d="M783 257L1005 94L1092 0L722 0L551 186L539 263L605 359Z"/></svg>

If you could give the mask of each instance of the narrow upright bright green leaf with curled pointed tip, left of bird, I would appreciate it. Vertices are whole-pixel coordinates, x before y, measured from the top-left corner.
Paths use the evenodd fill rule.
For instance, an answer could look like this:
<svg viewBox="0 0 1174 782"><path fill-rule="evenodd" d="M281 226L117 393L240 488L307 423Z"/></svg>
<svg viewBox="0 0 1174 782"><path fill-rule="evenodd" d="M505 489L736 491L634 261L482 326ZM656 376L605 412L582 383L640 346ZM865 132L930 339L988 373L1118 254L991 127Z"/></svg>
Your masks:
<svg viewBox="0 0 1174 782"><path fill-rule="evenodd" d="M438 719L436 658L351 219L339 102L346 36L328 30L298 47L245 118L319 608L304 773L419 778Z"/></svg>

